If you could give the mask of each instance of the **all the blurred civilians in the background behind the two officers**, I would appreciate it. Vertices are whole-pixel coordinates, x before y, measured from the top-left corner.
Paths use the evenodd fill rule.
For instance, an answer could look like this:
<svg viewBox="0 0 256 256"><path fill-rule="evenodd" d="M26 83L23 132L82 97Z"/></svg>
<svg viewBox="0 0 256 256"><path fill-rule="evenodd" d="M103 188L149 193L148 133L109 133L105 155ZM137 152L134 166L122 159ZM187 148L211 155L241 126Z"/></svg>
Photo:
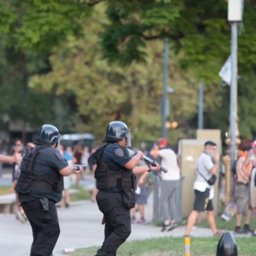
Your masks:
<svg viewBox="0 0 256 256"><path fill-rule="evenodd" d="M14 192L17 180L20 174L20 162L24 154L24 150L34 147L34 144L29 142L25 146L21 140L16 140L13 147L13 154L16 154L17 161L12 164L12 186L9 193ZM219 155L216 151L216 143L207 141L205 143L205 150L199 157L195 168L195 182L194 192L196 199L194 208L188 218L187 229L185 236L188 236L193 225L195 224L200 212L207 211L207 220L214 235L219 235L219 231L215 225L214 212L213 212L213 185L209 185L209 179L215 176L219 168ZM89 156L96 151L97 147L91 149L89 147L78 144L74 148L59 145L58 150L63 158L68 161L69 165L79 164L87 165L87 172L94 172L94 166L88 164ZM137 151L137 148L133 149ZM168 141L164 138L155 143L152 149L144 152L152 160L156 161L159 165L168 170L167 173L152 171L143 174L137 174L137 190L136 190L136 206L131 209L131 220L133 223L143 224L145 219L145 206L147 205L148 197L153 191L154 184L157 183L159 187L159 207L161 208L161 215L164 219L162 230L173 230L177 226L177 205L176 194L178 183L180 181L180 168L178 162L178 155L169 147ZM141 161L140 165L145 165ZM252 232L256 236L256 230L250 230L250 219L256 209L256 141L251 145L246 145L239 153L239 158L235 161L235 167L232 174L235 176L234 196L237 204L236 212L236 227L235 233L248 233ZM86 173L86 172L85 172ZM83 174L74 175L74 177L64 177L64 200L57 204L57 207L70 206L69 189L71 187L71 180L75 182L75 188L79 188L79 182L83 179ZM97 188L91 194L91 200L95 202L97 195ZM17 202L18 203L18 202ZM63 205L64 203L64 205ZM244 226L241 227L242 215L246 212L247 218ZM139 218L137 218L137 216ZM255 215L256 217L256 215ZM21 222L25 222L26 216L21 206L18 207L16 218Z"/></svg>

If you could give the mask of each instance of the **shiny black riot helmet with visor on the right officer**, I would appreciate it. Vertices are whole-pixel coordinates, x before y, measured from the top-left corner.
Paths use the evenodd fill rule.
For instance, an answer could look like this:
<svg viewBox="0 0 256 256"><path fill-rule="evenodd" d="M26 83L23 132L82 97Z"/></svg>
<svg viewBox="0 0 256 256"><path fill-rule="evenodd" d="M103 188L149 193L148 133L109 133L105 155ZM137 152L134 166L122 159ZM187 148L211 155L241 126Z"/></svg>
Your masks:
<svg viewBox="0 0 256 256"><path fill-rule="evenodd" d="M126 146L131 147L130 130L126 123L120 121L110 122L105 135L105 141L119 141L126 139Z"/></svg>

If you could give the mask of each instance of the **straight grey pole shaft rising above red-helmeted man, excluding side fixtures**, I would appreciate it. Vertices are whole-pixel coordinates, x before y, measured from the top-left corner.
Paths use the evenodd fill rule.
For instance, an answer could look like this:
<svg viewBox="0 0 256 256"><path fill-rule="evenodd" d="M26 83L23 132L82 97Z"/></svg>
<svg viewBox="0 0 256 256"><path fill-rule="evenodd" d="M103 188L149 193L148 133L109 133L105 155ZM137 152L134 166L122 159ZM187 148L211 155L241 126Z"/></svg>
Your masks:
<svg viewBox="0 0 256 256"><path fill-rule="evenodd" d="M165 38L164 50L164 84L163 84L163 97L162 97L162 137L166 138L165 123L167 121L167 87L168 87L168 38Z"/></svg>

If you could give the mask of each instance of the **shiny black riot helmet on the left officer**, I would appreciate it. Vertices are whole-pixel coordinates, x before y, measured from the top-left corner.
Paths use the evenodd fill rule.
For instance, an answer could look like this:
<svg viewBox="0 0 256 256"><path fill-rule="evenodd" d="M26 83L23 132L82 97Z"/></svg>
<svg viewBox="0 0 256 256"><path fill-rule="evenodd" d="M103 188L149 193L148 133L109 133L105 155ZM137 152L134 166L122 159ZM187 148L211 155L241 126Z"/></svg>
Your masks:
<svg viewBox="0 0 256 256"><path fill-rule="evenodd" d="M57 127L51 124L44 124L37 134L35 144L47 144L46 146L56 144L57 147L60 136Z"/></svg>

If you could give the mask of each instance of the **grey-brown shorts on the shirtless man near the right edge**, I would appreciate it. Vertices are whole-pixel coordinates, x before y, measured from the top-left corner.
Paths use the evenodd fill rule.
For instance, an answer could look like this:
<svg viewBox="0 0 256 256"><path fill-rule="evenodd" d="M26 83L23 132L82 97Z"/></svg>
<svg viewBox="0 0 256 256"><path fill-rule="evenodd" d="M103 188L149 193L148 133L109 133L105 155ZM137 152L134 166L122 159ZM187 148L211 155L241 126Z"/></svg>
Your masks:
<svg viewBox="0 0 256 256"><path fill-rule="evenodd" d="M235 199L237 204L237 213L243 213L247 204L251 208L251 197L249 185L238 182L235 187Z"/></svg>

